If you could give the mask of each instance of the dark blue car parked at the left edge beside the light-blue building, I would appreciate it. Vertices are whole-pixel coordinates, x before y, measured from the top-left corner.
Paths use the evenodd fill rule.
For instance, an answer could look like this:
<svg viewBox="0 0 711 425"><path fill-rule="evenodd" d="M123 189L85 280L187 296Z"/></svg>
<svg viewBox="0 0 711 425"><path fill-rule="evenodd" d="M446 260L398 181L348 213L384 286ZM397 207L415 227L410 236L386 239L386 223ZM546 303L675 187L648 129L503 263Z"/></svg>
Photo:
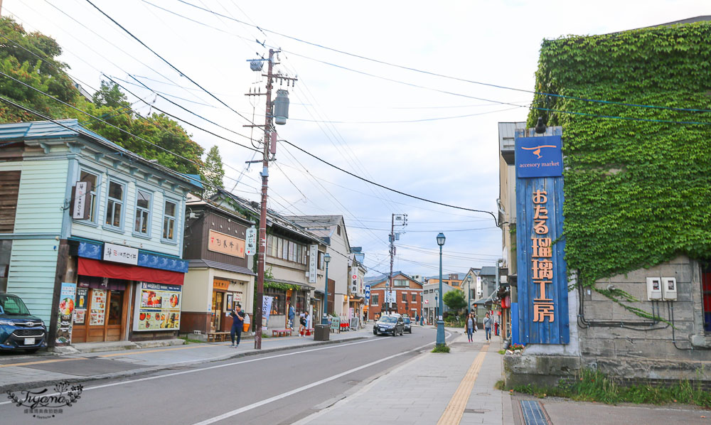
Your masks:
<svg viewBox="0 0 711 425"><path fill-rule="evenodd" d="M0 293L0 350L34 353L47 345L47 328L16 295Z"/></svg>

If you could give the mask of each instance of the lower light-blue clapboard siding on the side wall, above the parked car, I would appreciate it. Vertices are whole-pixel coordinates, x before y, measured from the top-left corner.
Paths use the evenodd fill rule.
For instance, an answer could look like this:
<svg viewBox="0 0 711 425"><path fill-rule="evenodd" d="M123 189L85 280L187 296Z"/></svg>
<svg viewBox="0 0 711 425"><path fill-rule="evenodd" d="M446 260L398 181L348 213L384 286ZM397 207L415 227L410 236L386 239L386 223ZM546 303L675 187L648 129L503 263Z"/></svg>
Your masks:
<svg viewBox="0 0 711 425"><path fill-rule="evenodd" d="M49 324L59 242L12 241L7 291L20 296L27 308Z"/></svg>

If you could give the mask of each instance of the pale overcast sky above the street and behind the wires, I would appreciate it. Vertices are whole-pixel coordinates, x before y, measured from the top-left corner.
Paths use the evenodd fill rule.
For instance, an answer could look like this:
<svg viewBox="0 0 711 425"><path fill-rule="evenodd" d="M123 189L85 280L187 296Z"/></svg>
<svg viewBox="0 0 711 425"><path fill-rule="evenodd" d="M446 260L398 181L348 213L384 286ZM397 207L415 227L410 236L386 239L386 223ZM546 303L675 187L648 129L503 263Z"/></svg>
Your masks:
<svg viewBox="0 0 711 425"><path fill-rule="evenodd" d="M232 109L248 119L254 114L257 124L264 122L264 97L244 94L259 87L264 91L264 79L250 70L247 60L266 57L269 46L282 48L276 69L299 80L288 88L290 119L278 126L280 139L390 188L491 212L496 212L498 198L496 123L525 120L532 95L353 55L532 90L544 38L610 33L711 14L707 0L92 1ZM15 16L26 30L55 38L70 75L84 82L87 91L99 87L101 72L128 81L134 75L186 109L250 136L251 130L242 127L245 119L129 38L87 1L4 0L2 7L3 16ZM149 90L127 87L148 102L155 99ZM154 104L227 139L250 143L163 99ZM135 109L141 114L150 110L142 102ZM261 165L252 165L240 178L254 152L183 126L205 151L219 146L228 190L259 200ZM255 129L255 139L261 138L259 133ZM493 265L501 257L501 230L490 215L375 188L287 144L279 144L276 164L269 170L269 207L284 214L343 215L351 246L363 247L370 274L389 269L392 213L406 213L408 219L397 242L396 270L437 274L435 237L440 231L447 236L445 273Z"/></svg>

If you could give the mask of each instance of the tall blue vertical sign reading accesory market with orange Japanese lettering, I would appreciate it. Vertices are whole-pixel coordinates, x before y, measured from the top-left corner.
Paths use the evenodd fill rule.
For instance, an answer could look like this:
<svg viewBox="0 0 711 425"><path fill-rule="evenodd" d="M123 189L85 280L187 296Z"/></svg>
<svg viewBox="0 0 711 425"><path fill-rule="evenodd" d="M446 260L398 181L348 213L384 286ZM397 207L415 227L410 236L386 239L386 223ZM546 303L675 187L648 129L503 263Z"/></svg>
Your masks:
<svg viewBox="0 0 711 425"><path fill-rule="evenodd" d="M562 140L517 131L518 340L570 343L563 235Z"/></svg>

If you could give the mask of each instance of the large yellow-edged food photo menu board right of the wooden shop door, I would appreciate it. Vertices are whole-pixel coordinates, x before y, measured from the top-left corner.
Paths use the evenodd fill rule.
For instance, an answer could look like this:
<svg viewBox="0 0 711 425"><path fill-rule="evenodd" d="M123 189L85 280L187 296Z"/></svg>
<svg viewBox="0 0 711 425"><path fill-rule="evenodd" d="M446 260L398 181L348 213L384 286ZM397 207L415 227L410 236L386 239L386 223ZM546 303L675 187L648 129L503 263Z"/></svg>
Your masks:
<svg viewBox="0 0 711 425"><path fill-rule="evenodd" d="M180 285L141 282L136 299L134 330L179 329L182 290Z"/></svg>

